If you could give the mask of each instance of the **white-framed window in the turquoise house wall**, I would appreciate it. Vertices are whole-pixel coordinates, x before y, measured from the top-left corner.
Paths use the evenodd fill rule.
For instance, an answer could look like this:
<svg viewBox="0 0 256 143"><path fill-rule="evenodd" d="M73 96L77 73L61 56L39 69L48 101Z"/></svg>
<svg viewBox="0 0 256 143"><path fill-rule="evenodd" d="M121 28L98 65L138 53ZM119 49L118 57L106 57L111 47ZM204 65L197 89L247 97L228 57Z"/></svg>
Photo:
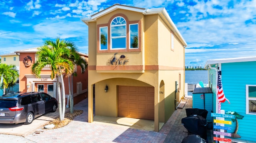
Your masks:
<svg viewBox="0 0 256 143"><path fill-rule="evenodd" d="M256 115L256 85L246 85L246 114Z"/></svg>

